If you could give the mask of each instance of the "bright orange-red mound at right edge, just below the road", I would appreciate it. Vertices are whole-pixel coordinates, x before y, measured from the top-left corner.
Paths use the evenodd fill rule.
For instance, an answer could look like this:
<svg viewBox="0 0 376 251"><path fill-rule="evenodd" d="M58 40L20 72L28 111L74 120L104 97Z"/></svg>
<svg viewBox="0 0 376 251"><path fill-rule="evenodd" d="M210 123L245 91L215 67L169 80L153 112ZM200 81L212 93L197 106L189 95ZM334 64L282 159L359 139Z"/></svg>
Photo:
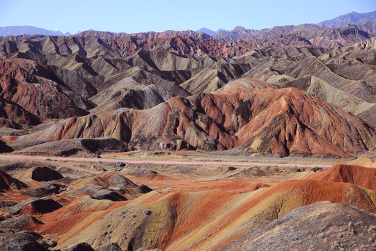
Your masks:
<svg viewBox="0 0 376 251"><path fill-rule="evenodd" d="M334 165L324 172L308 176L309 179L345 182L376 190L376 169L357 165Z"/></svg>

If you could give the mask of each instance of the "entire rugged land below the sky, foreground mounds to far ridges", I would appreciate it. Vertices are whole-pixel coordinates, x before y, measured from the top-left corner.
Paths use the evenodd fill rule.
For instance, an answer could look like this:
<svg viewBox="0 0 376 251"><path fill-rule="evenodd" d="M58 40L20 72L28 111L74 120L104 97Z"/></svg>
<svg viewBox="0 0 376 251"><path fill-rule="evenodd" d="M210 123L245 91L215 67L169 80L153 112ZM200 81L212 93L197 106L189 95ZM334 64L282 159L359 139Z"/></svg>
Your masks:
<svg viewBox="0 0 376 251"><path fill-rule="evenodd" d="M0 37L0 251L376 250L371 17Z"/></svg>

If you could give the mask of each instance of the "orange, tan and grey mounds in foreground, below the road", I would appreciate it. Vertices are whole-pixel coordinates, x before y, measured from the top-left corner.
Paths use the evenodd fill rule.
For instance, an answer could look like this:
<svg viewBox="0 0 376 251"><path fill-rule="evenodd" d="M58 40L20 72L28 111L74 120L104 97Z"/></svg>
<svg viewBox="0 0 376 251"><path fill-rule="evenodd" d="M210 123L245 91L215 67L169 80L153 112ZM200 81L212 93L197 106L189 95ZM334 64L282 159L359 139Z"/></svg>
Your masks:
<svg viewBox="0 0 376 251"><path fill-rule="evenodd" d="M260 245L274 250L276 239L285 243L277 250L304 249L303 239L308 248L373 243L376 190L360 178L374 180L370 168L335 165L300 180L279 176L272 185L245 178L159 175L150 169L136 169L127 177L93 175L93 170L85 170L90 174L85 178L72 178L66 176L72 172L68 169L63 178L47 167L31 168L15 175L25 183L0 172L6 191L0 191L0 229L35 231L53 238L62 250L82 242L94 250L109 243L121 250L252 250ZM175 189L150 190L136 185L141 182Z"/></svg>

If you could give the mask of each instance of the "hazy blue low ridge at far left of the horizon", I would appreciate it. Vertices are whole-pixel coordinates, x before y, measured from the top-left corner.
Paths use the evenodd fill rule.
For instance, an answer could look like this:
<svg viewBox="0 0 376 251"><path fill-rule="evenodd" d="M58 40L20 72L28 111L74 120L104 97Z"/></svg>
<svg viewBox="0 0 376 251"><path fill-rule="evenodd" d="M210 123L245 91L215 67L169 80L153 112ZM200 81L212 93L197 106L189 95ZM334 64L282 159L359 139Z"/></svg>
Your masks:
<svg viewBox="0 0 376 251"><path fill-rule="evenodd" d="M50 31L34 26L5 26L0 27L0 36L19 36L19 35L50 35L50 36L70 36L69 32Z"/></svg>

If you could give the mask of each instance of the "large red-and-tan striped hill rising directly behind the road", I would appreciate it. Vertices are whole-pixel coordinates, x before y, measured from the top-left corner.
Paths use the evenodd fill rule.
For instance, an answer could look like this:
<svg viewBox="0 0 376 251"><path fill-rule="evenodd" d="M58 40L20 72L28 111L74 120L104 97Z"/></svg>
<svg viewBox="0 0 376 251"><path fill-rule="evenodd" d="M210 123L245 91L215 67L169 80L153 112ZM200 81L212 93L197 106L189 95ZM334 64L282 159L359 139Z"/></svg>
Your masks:
<svg viewBox="0 0 376 251"><path fill-rule="evenodd" d="M258 88L245 82L221 94L171 98L151 109L73 117L19 140L109 136L135 149L233 149L279 156L346 157L375 149L375 128L343 109L295 88Z"/></svg>

